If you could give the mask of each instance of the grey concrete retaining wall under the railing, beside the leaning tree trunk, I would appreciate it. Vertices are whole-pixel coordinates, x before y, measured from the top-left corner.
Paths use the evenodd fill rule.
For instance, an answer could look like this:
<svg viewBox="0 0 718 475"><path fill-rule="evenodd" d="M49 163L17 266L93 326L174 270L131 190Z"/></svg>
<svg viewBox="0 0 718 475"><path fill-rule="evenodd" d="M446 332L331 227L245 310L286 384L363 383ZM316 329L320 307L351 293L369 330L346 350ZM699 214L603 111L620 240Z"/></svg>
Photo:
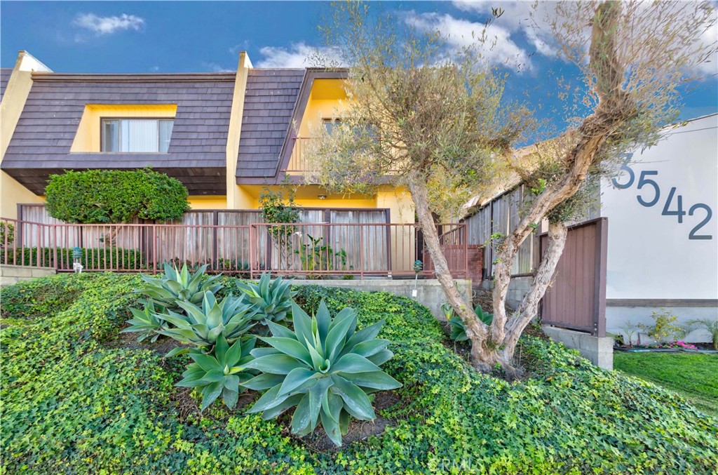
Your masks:
<svg viewBox="0 0 718 475"><path fill-rule="evenodd" d="M470 280L456 280L459 290L465 296L471 295ZM416 281L416 298L412 297L414 280L366 279L366 280L294 280L296 285L321 285L322 287L347 287L353 290L390 292L416 300L431 310L439 320L446 320L442 303L446 302L444 290L438 280Z"/></svg>

